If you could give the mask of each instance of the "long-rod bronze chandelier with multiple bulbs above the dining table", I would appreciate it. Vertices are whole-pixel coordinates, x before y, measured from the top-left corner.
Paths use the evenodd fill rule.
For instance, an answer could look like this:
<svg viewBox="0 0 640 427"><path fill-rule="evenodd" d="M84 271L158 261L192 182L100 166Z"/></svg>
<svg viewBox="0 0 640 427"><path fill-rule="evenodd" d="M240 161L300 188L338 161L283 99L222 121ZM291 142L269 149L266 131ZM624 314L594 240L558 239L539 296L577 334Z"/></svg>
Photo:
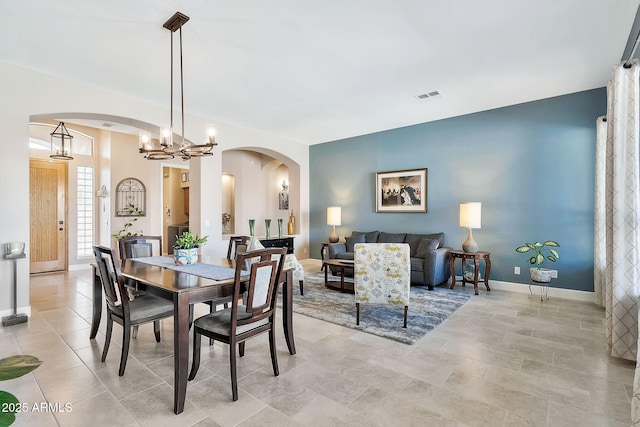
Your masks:
<svg viewBox="0 0 640 427"><path fill-rule="evenodd" d="M147 132L140 134L138 149L145 159L148 160L167 160L173 159L175 156L182 157L183 160L189 160L192 157L205 157L213 155L213 147L218 145L215 138L215 129L207 126L206 139L202 144L194 144L187 141L184 137L184 76L182 70L182 26L189 21L189 17L180 12L176 12L163 27L171 31L171 120L169 128L160 130L159 143L156 145L151 135ZM178 143L173 138L173 36L176 31L180 33L180 123L181 138Z"/></svg>

